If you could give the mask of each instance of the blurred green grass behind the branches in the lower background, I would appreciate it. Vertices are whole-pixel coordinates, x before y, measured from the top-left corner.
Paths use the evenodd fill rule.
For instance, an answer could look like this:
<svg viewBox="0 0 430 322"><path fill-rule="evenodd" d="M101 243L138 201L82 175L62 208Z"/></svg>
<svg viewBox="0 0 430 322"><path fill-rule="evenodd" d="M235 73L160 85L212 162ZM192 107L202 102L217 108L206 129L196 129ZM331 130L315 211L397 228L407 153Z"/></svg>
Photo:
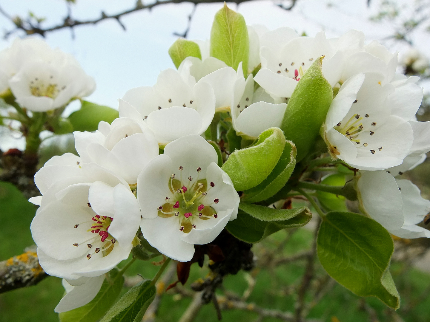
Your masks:
<svg viewBox="0 0 430 322"><path fill-rule="evenodd" d="M430 182L426 182L429 166L430 162L425 162L410 176L417 179L420 185L430 186ZM423 190L427 195L428 189ZM25 247L33 244L29 226L35 211L36 207L25 200L21 192L13 185L0 182L0 260L18 255L23 252ZM256 244L253 247L255 255L261 258L279 248L287 234L287 231L279 231L262 243ZM296 230L289 242L285 246L281 246L279 255L288 256L307 249L310 246L312 234L313 232L306 228ZM154 258L155 261L160 259ZM144 277L152 278L158 268L150 261L136 261L126 275L135 276L139 273ZM204 278L207 272L207 266L200 268L197 264L193 264L186 286L200 277ZM248 288L246 278L247 274L250 274L255 278L255 288L247 302L267 309L292 312L295 301L295 295L293 295L295 292L292 290L301 282L303 272L303 260L291 264L280 264L274 268L256 267L250 272L240 271L236 276L227 276L224 280L224 288L242 296ZM391 265L391 273L402 297L402 306L397 311L398 315L405 322L428 322L430 320L430 274L411 268L404 262L394 262ZM313 283L317 283L319 278L323 279L325 274L322 267L316 263L317 278ZM58 315L53 310L63 292L61 279L49 276L37 286L0 294L0 322L57 322ZM124 288L123 293L125 292ZM177 321L190 301L191 298L184 298L169 291L162 298L156 320L160 322ZM371 314L369 314L369 310ZM372 314L373 317L371 317ZM377 320L375 320L375 316ZM257 317L256 313L246 310L223 311L224 322L256 321ZM318 318L324 322L401 321L378 299L362 300L338 284L335 284L313 307L309 318ZM213 305L204 306L195 321L217 321ZM280 320L266 318L263 321Z"/></svg>

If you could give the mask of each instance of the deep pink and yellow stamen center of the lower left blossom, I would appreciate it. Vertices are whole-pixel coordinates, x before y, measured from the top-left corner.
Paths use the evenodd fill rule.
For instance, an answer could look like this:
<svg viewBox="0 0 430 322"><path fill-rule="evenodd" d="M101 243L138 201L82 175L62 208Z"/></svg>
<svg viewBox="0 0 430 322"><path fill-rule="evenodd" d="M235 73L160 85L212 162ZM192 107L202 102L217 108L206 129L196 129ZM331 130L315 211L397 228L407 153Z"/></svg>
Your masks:
<svg viewBox="0 0 430 322"><path fill-rule="evenodd" d="M91 204L88 204L88 207L91 207ZM86 231L91 233L91 237L83 242L74 243L73 246L79 247L86 244L86 247L89 249L94 248L94 252L86 255L88 259L99 252L102 253L103 257L109 255L117 241L108 232L113 220L112 217L95 215L90 221L74 225L74 228L77 229L85 229L90 225L91 227L86 229Z"/></svg>

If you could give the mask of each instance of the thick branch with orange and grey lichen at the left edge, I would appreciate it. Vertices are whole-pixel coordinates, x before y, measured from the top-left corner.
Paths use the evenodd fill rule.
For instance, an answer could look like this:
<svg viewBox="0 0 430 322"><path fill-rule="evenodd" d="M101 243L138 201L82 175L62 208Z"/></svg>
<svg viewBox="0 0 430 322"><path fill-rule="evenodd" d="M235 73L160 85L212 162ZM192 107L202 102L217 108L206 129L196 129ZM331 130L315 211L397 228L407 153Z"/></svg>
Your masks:
<svg viewBox="0 0 430 322"><path fill-rule="evenodd" d="M24 254L0 262L0 293L32 286L48 276L40 267L34 247Z"/></svg>

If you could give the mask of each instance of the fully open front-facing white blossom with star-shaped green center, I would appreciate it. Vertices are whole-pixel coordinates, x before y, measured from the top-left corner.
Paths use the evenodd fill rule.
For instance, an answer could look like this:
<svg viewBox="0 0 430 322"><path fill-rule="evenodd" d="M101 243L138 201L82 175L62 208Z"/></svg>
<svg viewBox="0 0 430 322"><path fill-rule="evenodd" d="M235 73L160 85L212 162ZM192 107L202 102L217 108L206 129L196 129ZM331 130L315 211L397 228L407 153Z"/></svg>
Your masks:
<svg viewBox="0 0 430 322"><path fill-rule="evenodd" d="M142 234L172 259L190 261L194 244L210 243L237 217L239 195L217 160L203 137L187 135L167 144L138 177Z"/></svg>

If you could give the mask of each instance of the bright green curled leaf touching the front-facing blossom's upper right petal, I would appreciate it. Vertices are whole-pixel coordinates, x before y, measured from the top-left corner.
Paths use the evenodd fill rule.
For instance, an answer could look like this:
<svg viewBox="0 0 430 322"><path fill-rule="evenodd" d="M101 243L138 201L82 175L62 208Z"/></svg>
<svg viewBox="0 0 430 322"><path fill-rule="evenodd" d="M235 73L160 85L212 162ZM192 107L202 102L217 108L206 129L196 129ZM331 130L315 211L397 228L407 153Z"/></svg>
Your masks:
<svg viewBox="0 0 430 322"><path fill-rule="evenodd" d="M285 137L279 128L270 128L249 148L233 152L222 169L230 176L237 191L248 190L260 184L276 166L285 146Z"/></svg>

